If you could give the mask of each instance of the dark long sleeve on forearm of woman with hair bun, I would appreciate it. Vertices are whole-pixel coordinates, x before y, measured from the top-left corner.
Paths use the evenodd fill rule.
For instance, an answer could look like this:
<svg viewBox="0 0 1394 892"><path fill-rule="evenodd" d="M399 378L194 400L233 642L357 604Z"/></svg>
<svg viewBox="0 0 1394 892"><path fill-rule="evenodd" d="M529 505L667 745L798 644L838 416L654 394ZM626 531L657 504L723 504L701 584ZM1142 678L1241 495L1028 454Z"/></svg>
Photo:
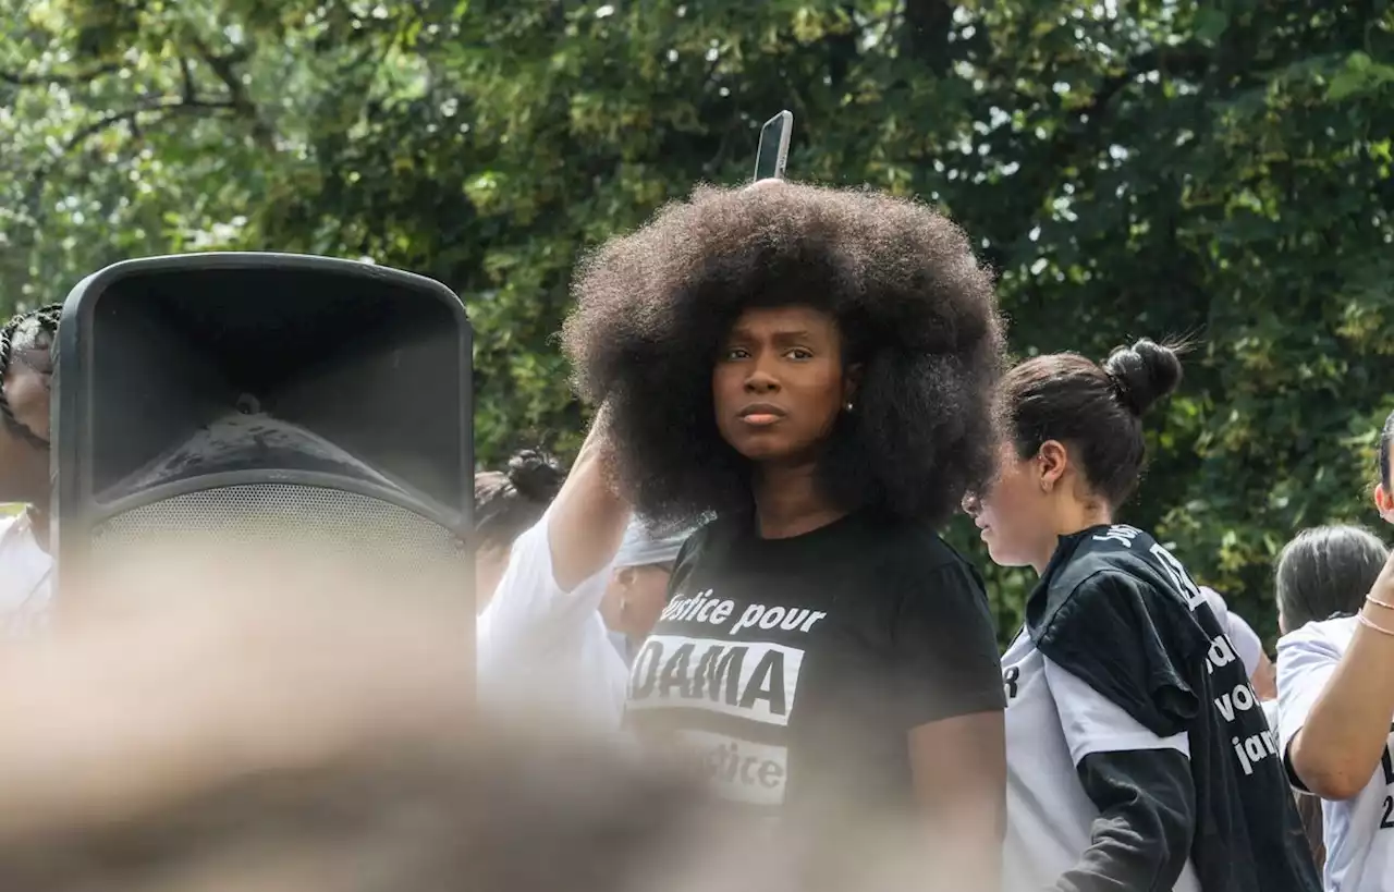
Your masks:
<svg viewBox="0 0 1394 892"><path fill-rule="evenodd" d="M1051 888L1057 892L1175 888L1190 856L1196 826L1190 760L1177 750L1090 753L1078 771L1100 814L1079 863Z"/></svg>

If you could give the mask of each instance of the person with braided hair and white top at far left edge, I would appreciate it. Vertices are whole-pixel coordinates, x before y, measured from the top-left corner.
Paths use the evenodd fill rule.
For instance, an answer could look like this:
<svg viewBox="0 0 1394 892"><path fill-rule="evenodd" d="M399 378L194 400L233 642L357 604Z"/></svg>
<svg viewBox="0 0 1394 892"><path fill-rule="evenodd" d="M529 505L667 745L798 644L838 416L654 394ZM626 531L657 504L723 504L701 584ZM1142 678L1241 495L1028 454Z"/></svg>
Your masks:
<svg viewBox="0 0 1394 892"><path fill-rule="evenodd" d="M22 312L0 329L0 502L25 506L0 523L0 636L31 630L50 597L49 394L61 309Z"/></svg>

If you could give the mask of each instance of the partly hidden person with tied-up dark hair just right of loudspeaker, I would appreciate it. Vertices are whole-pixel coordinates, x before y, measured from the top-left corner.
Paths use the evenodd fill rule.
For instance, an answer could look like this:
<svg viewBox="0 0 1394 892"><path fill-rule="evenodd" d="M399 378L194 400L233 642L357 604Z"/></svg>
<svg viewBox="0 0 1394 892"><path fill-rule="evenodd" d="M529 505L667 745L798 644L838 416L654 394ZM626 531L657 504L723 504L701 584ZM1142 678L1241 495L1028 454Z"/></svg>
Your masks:
<svg viewBox="0 0 1394 892"><path fill-rule="evenodd" d="M566 479L562 464L537 449L514 453L503 471L474 475L474 605L484 610L509 564L513 541L546 512Z"/></svg>

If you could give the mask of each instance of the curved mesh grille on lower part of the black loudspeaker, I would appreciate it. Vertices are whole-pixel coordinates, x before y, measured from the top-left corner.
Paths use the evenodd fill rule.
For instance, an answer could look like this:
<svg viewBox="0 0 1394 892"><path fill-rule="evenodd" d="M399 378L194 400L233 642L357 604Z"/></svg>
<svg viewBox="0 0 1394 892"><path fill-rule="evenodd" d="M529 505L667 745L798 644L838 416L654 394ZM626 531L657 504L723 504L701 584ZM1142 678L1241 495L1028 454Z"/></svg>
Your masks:
<svg viewBox="0 0 1394 892"><path fill-rule="evenodd" d="M244 484L190 492L113 516L92 531L95 558L124 546L216 541L309 549L410 567L442 560L467 566L456 535L397 505L300 484Z"/></svg>

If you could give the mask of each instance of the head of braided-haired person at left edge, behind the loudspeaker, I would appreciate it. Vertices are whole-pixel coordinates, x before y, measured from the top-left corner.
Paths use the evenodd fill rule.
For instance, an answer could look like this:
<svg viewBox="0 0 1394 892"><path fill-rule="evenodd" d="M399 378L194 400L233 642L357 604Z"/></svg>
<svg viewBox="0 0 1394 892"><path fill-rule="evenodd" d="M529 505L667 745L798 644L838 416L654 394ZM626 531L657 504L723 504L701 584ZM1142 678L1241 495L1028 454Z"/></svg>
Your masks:
<svg viewBox="0 0 1394 892"><path fill-rule="evenodd" d="M61 305L0 329L0 502L49 499L49 396Z"/></svg>

